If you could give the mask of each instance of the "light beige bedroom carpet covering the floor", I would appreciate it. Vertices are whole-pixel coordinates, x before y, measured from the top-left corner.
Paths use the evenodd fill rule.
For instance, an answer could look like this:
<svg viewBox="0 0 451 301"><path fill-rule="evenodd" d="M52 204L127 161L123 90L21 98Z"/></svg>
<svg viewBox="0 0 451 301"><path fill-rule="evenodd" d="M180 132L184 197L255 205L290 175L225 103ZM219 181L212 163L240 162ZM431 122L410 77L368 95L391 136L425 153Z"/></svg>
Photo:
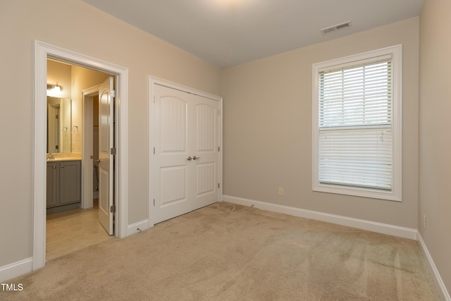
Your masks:
<svg viewBox="0 0 451 301"><path fill-rule="evenodd" d="M414 240L226 202L6 282L1 300L440 300Z"/></svg>

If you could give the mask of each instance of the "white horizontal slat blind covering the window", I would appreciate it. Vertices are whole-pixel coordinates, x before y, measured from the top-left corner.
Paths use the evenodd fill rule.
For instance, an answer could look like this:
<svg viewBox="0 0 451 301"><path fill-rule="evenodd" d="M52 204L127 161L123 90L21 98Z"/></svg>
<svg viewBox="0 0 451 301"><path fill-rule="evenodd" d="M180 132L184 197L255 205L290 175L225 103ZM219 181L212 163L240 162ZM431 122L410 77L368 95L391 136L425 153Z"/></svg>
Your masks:
<svg viewBox="0 0 451 301"><path fill-rule="evenodd" d="M318 76L319 183L392 190L392 57Z"/></svg>

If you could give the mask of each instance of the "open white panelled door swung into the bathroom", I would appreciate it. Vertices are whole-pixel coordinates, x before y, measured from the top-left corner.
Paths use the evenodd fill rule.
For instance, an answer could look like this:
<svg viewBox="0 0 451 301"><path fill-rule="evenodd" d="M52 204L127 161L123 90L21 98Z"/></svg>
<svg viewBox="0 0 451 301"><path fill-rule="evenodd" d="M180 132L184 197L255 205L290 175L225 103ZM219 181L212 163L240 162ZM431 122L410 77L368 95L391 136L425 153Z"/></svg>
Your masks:
<svg viewBox="0 0 451 301"><path fill-rule="evenodd" d="M113 77L99 86L99 221L113 235Z"/></svg>

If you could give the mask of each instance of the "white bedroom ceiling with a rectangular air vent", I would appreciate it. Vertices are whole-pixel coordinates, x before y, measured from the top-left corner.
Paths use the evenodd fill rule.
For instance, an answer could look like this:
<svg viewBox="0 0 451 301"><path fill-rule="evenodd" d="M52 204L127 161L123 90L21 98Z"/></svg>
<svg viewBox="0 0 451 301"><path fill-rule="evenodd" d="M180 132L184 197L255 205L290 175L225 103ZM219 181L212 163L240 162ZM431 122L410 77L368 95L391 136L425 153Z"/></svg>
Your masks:
<svg viewBox="0 0 451 301"><path fill-rule="evenodd" d="M418 16L423 0L83 0L226 68ZM323 35L320 30L351 21Z"/></svg>

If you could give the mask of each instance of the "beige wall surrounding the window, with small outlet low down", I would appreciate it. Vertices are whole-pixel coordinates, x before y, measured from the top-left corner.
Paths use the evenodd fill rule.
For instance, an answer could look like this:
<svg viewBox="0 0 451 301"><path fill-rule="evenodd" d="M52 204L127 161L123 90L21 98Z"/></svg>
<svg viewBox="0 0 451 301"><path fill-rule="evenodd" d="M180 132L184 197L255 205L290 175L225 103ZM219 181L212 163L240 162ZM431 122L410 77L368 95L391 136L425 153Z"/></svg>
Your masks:
<svg viewBox="0 0 451 301"><path fill-rule="evenodd" d="M312 192L312 64L396 44L404 67L402 202ZM419 18L411 18L224 70L224 195L416 229L418 48Z"/></svg>

